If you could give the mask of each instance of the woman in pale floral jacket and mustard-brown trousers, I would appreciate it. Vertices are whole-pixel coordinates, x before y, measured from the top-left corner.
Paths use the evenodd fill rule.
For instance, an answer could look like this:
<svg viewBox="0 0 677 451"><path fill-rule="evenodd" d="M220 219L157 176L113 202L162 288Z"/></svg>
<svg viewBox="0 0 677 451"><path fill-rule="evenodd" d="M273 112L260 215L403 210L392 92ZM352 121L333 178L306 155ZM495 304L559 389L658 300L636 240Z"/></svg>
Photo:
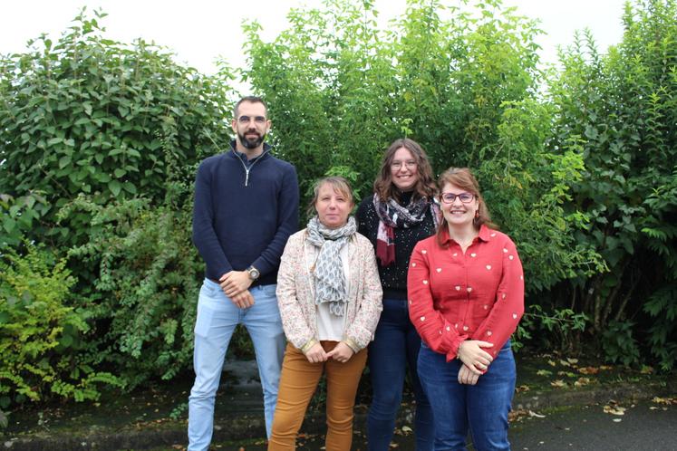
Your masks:
<svg viewBox="0 0 677 451"><path fill-rule="evenodd" d="M372 243L357 233L344 178L315 184L308 226L289 237L277 273L287 347L268 451L295 449L296 435L323 372L327 451L350 451L353 406L382 310Z"/></svg>

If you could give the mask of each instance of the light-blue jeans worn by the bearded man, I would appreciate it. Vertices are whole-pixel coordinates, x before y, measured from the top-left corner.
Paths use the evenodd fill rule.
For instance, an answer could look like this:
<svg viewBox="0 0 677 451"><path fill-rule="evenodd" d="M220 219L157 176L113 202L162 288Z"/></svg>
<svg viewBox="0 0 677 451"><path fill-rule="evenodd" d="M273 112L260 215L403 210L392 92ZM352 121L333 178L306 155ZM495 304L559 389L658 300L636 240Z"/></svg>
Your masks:
<svg viewBox="0 0 677 451"><path fill-rule="evenodd" d="M275 284L250 289L254 305L240 309L221 291L218 283L205 279L202 284L195 321L195 384L189 397L189 451L206 450L211 442L218 381L228 343L239 323L245 325L254 343L263 386L266 433L270 437L285 356L285 332L275 291Z"/></svg>

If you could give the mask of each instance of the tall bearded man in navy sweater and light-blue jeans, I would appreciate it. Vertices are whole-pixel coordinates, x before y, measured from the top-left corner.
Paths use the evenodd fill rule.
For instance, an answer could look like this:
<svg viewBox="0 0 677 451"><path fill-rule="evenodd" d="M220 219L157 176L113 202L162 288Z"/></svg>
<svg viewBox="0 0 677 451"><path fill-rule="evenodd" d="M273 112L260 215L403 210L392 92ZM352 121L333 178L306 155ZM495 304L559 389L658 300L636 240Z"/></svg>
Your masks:
<svg viewBox="0 0 677 451"><path fill-rule="evenodd" d="M211 442L218 381L239 323L254 343L268 437L273 425L285 352L277 268L287 238L298 229L299 194L295 168L264 143L271 125L266 114L260 98L238 101L231 149L198 168L193 242L207 269L195 324L189 451L206 450Z"/></svg>

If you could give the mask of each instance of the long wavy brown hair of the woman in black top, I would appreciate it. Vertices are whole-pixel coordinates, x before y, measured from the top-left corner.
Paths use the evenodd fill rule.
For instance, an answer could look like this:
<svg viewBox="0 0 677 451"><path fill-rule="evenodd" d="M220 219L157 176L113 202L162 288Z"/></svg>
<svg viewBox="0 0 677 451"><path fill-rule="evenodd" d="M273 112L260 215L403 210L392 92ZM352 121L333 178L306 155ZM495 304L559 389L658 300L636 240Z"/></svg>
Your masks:
<svg viewBox="0 0 677 451"><path fill-rule="evenodd" d="M382 202L387 202L390 198L400 200L400 190L392 183L391 164L392 159L395 158L395 152L401 148L409 150L414 160L416 160L419 181L416 182L414 187L414 197L432 199L437 194L437 187L435 185L435 178L432 175L428 155L421 148L421 144L409 138L395 139L385 151L381 162L381 170L376 177L376 181L373 182L373 192L378 195Z"/></svg>

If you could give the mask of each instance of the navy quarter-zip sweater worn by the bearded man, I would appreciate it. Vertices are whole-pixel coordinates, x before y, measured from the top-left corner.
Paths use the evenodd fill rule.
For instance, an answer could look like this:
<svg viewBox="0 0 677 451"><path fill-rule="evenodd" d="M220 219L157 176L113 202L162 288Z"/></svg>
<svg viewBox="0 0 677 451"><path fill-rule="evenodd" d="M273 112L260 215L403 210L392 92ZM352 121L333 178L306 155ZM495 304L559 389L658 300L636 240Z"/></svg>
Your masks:
<svg viewBox="0 0 677 451"><path fill-rule="evenodd" d="M193 243L214 281L250 265L255 284L276 283L280 256L298 229L298 179L294 166L264 153L247 168L235 152L200 163L195 181Z"/></svg>

